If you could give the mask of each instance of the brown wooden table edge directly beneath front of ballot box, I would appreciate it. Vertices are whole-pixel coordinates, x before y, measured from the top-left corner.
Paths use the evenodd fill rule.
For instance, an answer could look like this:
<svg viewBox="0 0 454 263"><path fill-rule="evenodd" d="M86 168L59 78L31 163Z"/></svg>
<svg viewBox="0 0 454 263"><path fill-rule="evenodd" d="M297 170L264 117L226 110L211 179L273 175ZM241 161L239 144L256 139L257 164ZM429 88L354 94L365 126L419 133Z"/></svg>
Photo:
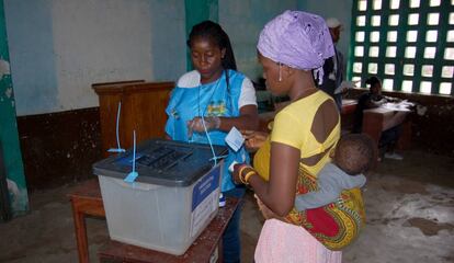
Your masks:
<svg viewBox="0 0 454 263"><path fill-rule="evenodd" d="M177 263L177 262L209 262L211 256L218 252L218 262L222 262L222 236L238 207L239 199L227 198L226 206L219 208L218 214L198 236L188 251L182 255L172 255L159 251L110 241L98 252L100 262L134 262L134 263Z"/></svg>

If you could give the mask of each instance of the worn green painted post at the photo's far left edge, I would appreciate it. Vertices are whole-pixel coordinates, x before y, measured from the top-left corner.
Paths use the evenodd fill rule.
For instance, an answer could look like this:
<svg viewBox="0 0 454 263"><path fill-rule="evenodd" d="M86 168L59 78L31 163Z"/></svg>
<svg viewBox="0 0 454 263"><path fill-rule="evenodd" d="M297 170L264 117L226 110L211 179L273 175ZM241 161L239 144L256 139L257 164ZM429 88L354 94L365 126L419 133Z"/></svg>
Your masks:
<svg viewBox="0 0 454 263"><path fill-rule="evenodd" d="M18 216L29 210L29 197L19 145L9 61L3 1L0 1L0 140L3 147L11 209L13 216Z"/></svg>

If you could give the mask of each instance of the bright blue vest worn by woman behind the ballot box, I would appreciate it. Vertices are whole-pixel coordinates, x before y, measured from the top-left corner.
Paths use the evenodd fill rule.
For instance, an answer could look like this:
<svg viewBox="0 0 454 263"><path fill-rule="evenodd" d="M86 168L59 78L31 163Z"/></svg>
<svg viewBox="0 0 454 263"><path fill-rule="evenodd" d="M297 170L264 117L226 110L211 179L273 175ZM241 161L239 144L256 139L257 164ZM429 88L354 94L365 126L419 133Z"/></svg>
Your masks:
<svg viewBox="0 0 454 263"><path fill-rule="evenodd" d="M168 121L166 133L173 140L209 144L206 133L193 133L192 138L188 137L188 121L197 116L222 116L238 117L238 101L241 93L245 76L229 70L229 88L227 90L226 75L214 82L200 84L194 88L175 87L172 90L169 105L166 108ZM213 145L225 146L227 133L211 130L208 136ZM235 187L228 167L235 161L249 163L249 155L241 147L237 152L228 149L228 157L224 163L224 176L222 179L222 191L226 192Z"/></svg>

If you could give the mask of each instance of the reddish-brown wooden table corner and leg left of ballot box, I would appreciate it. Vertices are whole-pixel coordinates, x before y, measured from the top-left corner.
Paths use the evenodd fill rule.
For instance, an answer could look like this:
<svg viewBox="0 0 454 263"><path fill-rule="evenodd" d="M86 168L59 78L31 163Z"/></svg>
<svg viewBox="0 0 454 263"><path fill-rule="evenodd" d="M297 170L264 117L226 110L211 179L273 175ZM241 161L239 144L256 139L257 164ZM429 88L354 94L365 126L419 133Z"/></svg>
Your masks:
<svg viewBox="0 0 454 263"><path fill-rule="evenodd" d="M75 187L68 196L70 197L72 205L79 262L88 263L90 260L88 253L86 216L105 217L98 179L81 183Z"/></svg>

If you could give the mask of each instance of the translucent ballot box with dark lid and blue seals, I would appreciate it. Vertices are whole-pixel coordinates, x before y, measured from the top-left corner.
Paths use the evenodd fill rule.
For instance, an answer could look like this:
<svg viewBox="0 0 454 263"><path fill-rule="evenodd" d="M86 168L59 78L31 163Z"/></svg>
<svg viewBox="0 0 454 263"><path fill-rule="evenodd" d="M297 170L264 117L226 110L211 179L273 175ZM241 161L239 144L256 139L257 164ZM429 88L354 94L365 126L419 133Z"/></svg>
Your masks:
<svg viewBox="0 0 454 263"><path fill-rule="evenodd" d="M214 146L216 156L226 147ZM218 210L224 161L209 145L152 139L93 164L111 239L183 254Z"/></svg>

